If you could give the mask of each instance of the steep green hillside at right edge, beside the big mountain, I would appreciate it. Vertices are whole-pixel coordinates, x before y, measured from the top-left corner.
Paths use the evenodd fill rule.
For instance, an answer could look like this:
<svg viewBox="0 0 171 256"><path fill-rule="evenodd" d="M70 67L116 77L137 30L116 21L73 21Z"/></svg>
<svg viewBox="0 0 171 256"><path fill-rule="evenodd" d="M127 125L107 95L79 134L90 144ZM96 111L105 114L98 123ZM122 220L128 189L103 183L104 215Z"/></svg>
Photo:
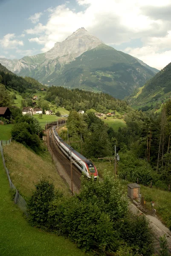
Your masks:
<svg viewBox="0 0 171 256"><path fill-rule="evenodd" d="M128 97L128 101L132 105L146 106L153 105L154 108L160 108L161 104L171 97L171 63L163 70L151 78L142 90Z"/></svg>

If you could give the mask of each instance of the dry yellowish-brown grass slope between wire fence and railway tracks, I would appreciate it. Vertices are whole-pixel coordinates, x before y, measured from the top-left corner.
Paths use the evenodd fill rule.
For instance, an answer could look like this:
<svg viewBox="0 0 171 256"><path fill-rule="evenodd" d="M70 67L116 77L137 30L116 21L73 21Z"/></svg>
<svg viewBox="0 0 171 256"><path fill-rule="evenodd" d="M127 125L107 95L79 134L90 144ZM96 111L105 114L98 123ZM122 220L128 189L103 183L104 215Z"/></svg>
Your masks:
<svg viewBox="0 0 171 256"><path fill-rule="evenodd" d="M39 156L24 145L12 142L4 146L4 158L12 182L22 195L30 196L34 183L37 183L43 175L53 181L56 189L69 195L69 189L58 174L48 151L44 151Z"/></svg>

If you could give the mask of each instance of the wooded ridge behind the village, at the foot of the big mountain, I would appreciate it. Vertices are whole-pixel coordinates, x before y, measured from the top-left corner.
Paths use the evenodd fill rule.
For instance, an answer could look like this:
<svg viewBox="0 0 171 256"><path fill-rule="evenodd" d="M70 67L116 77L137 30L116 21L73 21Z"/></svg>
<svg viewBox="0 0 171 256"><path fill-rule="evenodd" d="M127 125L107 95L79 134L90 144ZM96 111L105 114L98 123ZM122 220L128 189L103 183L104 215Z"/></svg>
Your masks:
<svg viewBox="0 0 171 256"><path fill-rule="evenodd" d="M49 87L46 91L45 99L52 104L72 108L76 111L95 109L97 112L106 113L110 109L116 111L126 111L127 104L123 100L115 99L106 93L93 93L79 89L66 89L64 87Z"/></svg>

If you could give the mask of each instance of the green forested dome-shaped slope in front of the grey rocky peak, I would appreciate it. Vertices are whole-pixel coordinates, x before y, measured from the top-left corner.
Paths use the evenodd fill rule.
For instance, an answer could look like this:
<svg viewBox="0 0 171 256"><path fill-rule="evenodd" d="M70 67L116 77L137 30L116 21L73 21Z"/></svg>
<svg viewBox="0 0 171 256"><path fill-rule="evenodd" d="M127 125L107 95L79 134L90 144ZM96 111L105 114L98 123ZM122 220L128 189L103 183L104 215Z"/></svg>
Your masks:
<svg viewBox="0 0 171 256"><path fill-rule="evenodd" d="M56 74L54 71L43 83L102 91L123 99L135 88L143 86L155 73L132 56L102 44L84 52L65 65L58 76Z"/></svg>

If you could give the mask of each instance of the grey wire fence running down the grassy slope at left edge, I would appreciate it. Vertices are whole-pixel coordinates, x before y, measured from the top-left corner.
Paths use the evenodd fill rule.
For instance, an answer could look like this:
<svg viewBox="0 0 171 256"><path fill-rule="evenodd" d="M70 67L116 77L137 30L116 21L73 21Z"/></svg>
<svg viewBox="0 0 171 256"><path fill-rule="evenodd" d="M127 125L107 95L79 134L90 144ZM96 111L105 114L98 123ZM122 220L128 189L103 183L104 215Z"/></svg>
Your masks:
<svg viewBox="0 0 171 256"><path fill-rule="evenodd" d="M14 197L14 203L18 205L18 207L26 213L26 209L27 209L27 204L26 201L24 200L24 198L18 193L16 187L14 186L14 184L12 183L12 180L10 179L9 176L9 170L6 168L6 164L5 164L5 159L3 157L3 145L8 145L12 142L12 138L10 138L9 140L0 140L0 152L2 155L2 159L3 159L3 166L5 168L6 171L6 175L8 177L9 180L9 186L11 189L15 190L15 197Z"/></svg>

